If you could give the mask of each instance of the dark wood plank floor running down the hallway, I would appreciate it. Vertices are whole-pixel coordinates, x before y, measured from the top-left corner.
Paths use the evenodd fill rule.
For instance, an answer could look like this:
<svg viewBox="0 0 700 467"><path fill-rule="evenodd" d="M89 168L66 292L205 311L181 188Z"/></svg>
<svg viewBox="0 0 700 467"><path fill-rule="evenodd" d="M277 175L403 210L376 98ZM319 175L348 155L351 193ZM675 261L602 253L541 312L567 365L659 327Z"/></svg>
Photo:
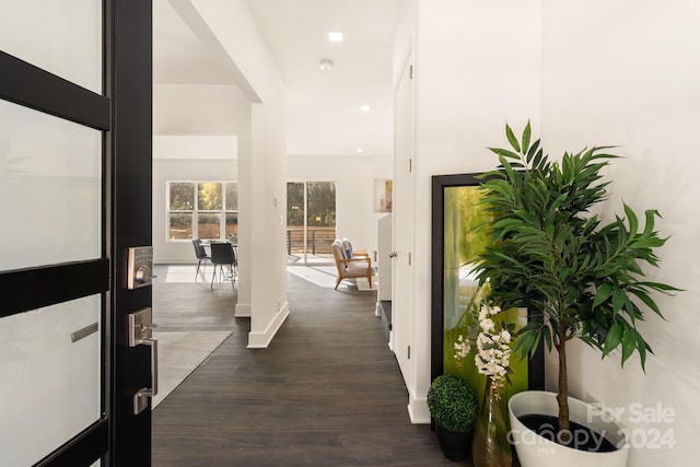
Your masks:
<svg viewBox="0 0 700 467"><path fill-rule="evenodd" d="M167 300L166 288L155 289L154 308ZM205 302L235 300L230 289L179 289ZM374 293L289 275L289 299L291 314L268 349L246 349L247 319L229 319L231 338L154 409L153 466L460 465L443 457L429 425L410 423ZM189 322L197 303L183 312ZM231 316L223 307L205 313Z"/></svg>

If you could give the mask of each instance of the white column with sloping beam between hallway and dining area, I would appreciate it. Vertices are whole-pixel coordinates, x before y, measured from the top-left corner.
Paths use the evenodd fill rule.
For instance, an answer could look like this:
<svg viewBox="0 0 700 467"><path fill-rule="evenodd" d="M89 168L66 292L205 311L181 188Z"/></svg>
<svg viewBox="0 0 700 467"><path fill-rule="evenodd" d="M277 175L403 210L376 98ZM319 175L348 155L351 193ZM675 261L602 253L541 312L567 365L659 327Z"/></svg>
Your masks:
<svg viewBox="0 0 700 467"><path fill-rule="evenodd" d="M250 278L236 315L250 315L248 347L267 347L289 315L285 269L287 157L284 84L244 0L192 0L200 19L259 101L250 114L250 155L240 155L241 276ZM277 206L276 206L277 205ZM245 210L245 211L244 211ZM242 296L240 295L240 299Z"/></svg>

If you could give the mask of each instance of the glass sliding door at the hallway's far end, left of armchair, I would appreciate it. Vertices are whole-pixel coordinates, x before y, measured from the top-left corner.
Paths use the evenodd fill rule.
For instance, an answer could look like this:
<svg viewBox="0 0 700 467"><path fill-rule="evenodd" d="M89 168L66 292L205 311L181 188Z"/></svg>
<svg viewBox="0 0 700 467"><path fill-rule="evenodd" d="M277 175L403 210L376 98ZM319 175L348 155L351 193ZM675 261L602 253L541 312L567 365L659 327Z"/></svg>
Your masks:
<svg viewBox="0 0 700 467"><path fill-rule="evenodd" d="M336 238L336 183L287 184L287 258L290 264L331 264Z"/></svg>

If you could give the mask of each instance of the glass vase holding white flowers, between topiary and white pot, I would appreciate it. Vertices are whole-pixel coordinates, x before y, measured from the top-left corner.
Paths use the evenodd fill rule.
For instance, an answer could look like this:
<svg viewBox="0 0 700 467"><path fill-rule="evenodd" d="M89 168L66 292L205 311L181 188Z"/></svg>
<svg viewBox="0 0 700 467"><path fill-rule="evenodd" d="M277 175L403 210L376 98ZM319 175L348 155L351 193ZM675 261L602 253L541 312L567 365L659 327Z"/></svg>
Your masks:
<svg viewBox="0 0 700 467"><path fill-rule="evenodd" d="M508 442L505 383L493 385L487 377L483 402L474 428L471 460L474 467L512 467L513 453Z"/></svg>

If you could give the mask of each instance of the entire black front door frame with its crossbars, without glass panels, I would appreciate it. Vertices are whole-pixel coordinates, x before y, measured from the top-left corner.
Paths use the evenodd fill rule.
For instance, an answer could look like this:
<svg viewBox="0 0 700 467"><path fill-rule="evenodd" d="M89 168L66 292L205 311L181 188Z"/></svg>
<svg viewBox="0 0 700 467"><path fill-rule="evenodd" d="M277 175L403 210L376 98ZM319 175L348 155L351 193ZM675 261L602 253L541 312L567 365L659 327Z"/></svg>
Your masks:
<svg viewBox="0 0 700 467"><path fill-rule="evenodd" d="M150 349L128 347L128 314L151 288L128 290L130 246L152 243L152 4L103 1L104 95L0 50L0 100L104 131L101 258L0 272L0 318L103 295L103 416L37 466L151 464L151 410L132 415L151 381ZM75 280L80 278L80 280Z"/></svg>

